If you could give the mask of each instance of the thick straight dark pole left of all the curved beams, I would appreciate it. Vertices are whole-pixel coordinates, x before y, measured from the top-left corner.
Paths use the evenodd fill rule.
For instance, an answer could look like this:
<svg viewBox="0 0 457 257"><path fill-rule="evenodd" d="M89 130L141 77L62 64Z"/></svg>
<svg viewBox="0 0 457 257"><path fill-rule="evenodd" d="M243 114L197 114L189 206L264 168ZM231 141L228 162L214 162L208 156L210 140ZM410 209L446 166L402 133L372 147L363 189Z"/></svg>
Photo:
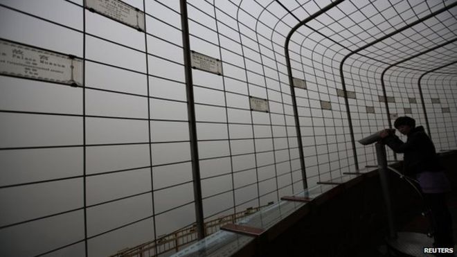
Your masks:
<svg viewBox="0 0 457 257"><path fill-rule="evenodd" d="M181 8L181 30L183 37L183 56L184 56L184 74L186 77L186 95L187 95L187 113L189 119L189 138L190 138L190 159L192 160L192 179L194 186L195 200L195 219L197 223L198 239L205 237L204 233L204 218L203 218L203 201L201 200L201 184L200 184L200 164L198 156L198 141L197 141L197 125L195 122L195 102L194 89L192 82L192 65L190 57L190 40L189 40L189 24L187 17L187 2L180 0Z"/></svg>

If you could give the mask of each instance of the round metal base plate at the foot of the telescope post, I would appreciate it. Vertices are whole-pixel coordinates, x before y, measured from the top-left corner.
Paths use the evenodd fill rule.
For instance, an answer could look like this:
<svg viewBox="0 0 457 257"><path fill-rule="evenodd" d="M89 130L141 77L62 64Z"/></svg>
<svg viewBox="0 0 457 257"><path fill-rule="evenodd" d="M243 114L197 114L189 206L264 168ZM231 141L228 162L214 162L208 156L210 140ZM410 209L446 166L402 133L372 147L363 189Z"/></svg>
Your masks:
<svg viewBox="0 0 457 257"><path fill-rule="evenodd" d="M424 248L433 247L433 238L423 233L397 232L397 238L387 239L386 242L391 249L405 256L435 256L424 254Z"/></svg>

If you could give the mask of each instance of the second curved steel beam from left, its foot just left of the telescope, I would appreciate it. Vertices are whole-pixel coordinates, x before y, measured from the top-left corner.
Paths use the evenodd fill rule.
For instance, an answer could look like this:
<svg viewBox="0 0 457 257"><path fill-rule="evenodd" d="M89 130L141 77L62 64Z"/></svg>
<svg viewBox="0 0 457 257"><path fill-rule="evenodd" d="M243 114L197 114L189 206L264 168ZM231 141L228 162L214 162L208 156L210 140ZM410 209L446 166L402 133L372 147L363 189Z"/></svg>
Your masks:
<svg viewBox="0 0 457 257"><path fill-rule="evenodd" d="M348 95L347 95L347 92L346 92L346 81L344 80L344 73L343 73L343 65L344 65L344 62L348 59L348 57L350 57L351 55L354 55L355 53L359 53L359 51L362 51L364 50L365 48L368 48L370 46L373 46L374 44L377 44L379 42L382 42L384 39L387 39L388 37L392 37L393 35L397 34L397 33L400 33L402 32L403 30L406 30L407 28L411 28L412 26L415 26L417 24L420 24L421 22L423 21L426 21L427 19L430 19L432 17L435 17L436 15L439 15L441 12L445 12L451 8L454 8L455 6L457 6L457 1L450 4L449 6L445 6L444 8L441 8L440 10L437 10L436 12L431 12L431 14L427 15L427 16L424 16L422 17L421 19L418 19L417 21L414 21L413 23L411 24L408 24L406 26L403 26L402 28L399 28L391 33L388 33L387 35L384 35L384 37L379 37L379 39L376 39L375 41L369 43L369 44L366 44L364 46L361 46L360 48L358 48L357 50L355 51L352 51L350 52L348 55L346 55L345 57L343 57L343 60L341 60L341 63L339 64L339 73L340 73L340 76L341 76L341 85L343 87L343 91L344 91L344 100L345 100L345 103L346 103L346 112L348 113L348 119L349 119L349 129L350 129L350 137L351 137L351 143L352 143L352 151L353 151L353 154L354 154L354 159L355 159L355 167L357 170L359 170L359 161L357 160L357 150L355 149L355 139L354 139L354 131L352 130L352 120L351 120L351 117L350 117L350 109L349 109L349 103L348 103ZM386 101L387 102L387 101ZM388 118L388 125L389 127L392 127L392 123L391 123L391 119Z"/></svg>

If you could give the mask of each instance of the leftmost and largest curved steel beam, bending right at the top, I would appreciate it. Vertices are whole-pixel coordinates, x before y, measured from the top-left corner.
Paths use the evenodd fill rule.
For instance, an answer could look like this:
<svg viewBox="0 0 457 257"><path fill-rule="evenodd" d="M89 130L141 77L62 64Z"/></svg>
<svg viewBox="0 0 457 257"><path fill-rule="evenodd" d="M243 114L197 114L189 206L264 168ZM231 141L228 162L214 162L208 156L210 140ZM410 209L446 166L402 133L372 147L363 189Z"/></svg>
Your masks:
<svg viewBox="0 0 457 257"><path fill-rule="evenodd" d="M308 21L318 17L319 15L327 12L328 10L332 9L334 6L337 6L339 3L343 2L344 0L337 0L333 3L330 3L328 6L325 6L319 12L315 12L310 17L303 19L300 21L292 30L290 30L289 34L286 37L284 51L285 51L285 59L287 64L287 75L289 76L289 87L290 87L290 94L292 96L292 108L294 109L294 118L295 118L295 127L296 127L296 134L297 134L297 141L298 141L298 152L300 154L300 166L301 166L301 175L303 177L303 188L307 188L307 180L306 180L306 171L305 171L305 154L303 153L303 143L301 141L301 130L300 130L300 121L298 119L298 108L297 102L295 97L295 88L294 88L294 80L292 78L292 64L290 63L290 56L289 56L289 43L292 35L295 33L298 28L305 25Z"/></svg>

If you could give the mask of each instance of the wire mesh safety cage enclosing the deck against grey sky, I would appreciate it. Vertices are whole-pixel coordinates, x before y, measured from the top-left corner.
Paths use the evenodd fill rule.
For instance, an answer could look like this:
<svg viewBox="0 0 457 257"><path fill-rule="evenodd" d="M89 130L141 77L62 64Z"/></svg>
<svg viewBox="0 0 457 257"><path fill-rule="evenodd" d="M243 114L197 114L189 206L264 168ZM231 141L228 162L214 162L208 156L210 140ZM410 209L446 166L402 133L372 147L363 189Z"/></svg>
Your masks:
<svg viewBox="0 0 457 257"><path fill-rule="evenodd" d="M0 2L1 39L84 61L82 87L0 76L2 255L107 255L194 223L195 204L207 220L278 201L373 164L353 139L395 115L457 147L456 1L334 1L292 35L291 74L289 31L330 1L187 1L191 50L223 71L192 70L197 143L179 1L125 2L145 30L82 1Z"/></svg>

